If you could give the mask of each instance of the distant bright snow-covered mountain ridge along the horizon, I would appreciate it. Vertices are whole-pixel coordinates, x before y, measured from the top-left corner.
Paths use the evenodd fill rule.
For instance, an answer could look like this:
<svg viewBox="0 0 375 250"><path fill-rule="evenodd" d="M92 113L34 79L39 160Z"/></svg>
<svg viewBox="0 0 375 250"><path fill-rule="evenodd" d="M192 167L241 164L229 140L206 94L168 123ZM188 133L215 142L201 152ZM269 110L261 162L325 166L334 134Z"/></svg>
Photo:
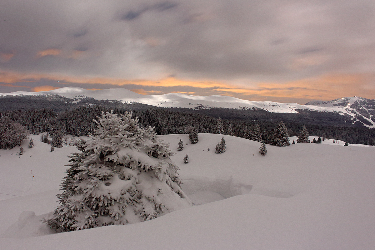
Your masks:
<svg viewBox="0 0 375 250"><path fill-rule="evenodd" d="M338 112L341 115L351 117L353 122L367 127L375 127L375 100L362 97L345 97L329 102L314 101L301 105L298 103L255 102L242 100L230 96L192 96L180 93L162 95L142 95L124 88L112 88L105 90L86 90L78 87L58 88L50 91L25 92L0 94L6 95L47 95L58 94L70 99L80 100L84 97L93 97L97 100L118 100L121 102L138 102L159 107L175 108L234 108L252 109L258 108L276 113L297 113L299 109L311 109L315 111Z"/></svg>

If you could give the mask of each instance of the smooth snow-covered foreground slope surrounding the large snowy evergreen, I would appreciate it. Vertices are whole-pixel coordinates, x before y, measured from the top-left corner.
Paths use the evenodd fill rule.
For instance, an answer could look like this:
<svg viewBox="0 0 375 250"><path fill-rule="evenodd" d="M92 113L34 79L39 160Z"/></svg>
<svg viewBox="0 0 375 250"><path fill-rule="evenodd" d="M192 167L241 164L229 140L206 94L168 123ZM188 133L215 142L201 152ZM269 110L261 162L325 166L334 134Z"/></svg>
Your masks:
<svg viewBox="0 0 375 250"><path fill-rule="evenodd" d="M8 194L0 201L1 249L375 249L375 147L267 145L263 157L259 142L233 136L224 135L223 154L214 153L222 135L199 134L197 144L185 134L159 137L177 152L171 158L196 206L142 223L37 237L48 233L39 215L57 206L66 155L77 150L50 152L37 135L34 148L24 142L22 156L18 147L0 150L0 193Z"/></svg>

